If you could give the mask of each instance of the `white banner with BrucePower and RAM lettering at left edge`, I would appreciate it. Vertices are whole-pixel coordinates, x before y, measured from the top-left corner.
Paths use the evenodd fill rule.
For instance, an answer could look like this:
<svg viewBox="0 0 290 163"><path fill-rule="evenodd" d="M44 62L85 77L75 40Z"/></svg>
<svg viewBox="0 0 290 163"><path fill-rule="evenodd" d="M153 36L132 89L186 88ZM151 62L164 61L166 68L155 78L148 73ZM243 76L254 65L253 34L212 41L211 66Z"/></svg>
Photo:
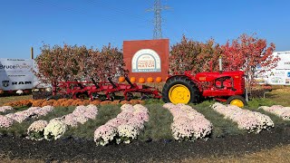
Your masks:
<svg viewBox="0 0 290 163"><path fill-rule="evenodd" d="M0 89L4 91L32 89L38 83L31 59L0 58Z"/></svg>

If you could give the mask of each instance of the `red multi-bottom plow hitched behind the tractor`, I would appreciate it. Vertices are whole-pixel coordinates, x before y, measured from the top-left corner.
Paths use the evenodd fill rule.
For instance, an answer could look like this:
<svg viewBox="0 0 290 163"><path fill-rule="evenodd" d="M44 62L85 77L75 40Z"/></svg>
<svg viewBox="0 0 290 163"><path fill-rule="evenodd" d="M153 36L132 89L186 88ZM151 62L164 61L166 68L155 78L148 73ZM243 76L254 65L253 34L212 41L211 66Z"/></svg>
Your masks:
<svg viewBox="0 0 290 163"><path fill-rule="evenodd" d="M133 93L140 93L141 100L161 98L161 92L153 87L146 85L138 85L130 82L128 77L125 77L127 84L112 82L108 78L108 82L53 82L53 97L65 97L73 99L89 98L90 100L101 99L113 101L116 99L116 94L123 96L120 100L130 101Z"/></svg>

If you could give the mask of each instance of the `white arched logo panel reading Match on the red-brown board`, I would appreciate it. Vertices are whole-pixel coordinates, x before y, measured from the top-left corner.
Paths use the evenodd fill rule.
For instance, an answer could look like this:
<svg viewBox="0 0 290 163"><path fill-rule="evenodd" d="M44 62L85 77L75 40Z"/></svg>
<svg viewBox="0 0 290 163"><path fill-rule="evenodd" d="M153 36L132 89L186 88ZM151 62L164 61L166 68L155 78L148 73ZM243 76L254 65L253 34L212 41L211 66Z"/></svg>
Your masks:
<svg viewBox="0 0 290 163"><path fill-rule="evenodd" d="M161 72L160 55L151 49L141 49L132 58L132 72Z"/></svg>

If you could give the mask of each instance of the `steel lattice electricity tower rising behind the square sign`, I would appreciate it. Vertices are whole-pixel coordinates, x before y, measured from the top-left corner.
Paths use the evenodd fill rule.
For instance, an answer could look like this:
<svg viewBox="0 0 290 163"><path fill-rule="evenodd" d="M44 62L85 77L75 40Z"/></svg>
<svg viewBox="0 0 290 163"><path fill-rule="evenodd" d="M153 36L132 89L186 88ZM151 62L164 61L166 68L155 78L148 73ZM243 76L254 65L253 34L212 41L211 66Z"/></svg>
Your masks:
<svg viewBox="0 0 290 163"><path fill-rule="evenodd" d="M154 0L153 8L148 9L148 12L154 12L154 30L153 30L153 39L162 38L162 17L161 11L169 9L169 6L162 6L161 0Z"/></svg>

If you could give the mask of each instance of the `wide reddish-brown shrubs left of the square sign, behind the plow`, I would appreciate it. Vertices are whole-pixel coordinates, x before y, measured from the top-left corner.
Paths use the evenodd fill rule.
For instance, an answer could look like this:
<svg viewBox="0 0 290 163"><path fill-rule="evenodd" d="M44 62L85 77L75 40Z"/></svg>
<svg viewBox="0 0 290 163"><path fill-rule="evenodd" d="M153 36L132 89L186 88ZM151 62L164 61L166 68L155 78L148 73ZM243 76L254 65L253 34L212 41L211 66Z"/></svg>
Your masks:
<svg viewBox="0 0 290 163"><path fill-rule="evenodd" d="M91 81L91 77L107 81L108 77L115 78L115 74L127 73L123 69L125 64L122 57L119 49L112 47L110 43L103 46L101 51L87 49L86 46L64 44L51 47L44 44L41 54L35 59L38 67L35 74L44 83Z"/></svg>

